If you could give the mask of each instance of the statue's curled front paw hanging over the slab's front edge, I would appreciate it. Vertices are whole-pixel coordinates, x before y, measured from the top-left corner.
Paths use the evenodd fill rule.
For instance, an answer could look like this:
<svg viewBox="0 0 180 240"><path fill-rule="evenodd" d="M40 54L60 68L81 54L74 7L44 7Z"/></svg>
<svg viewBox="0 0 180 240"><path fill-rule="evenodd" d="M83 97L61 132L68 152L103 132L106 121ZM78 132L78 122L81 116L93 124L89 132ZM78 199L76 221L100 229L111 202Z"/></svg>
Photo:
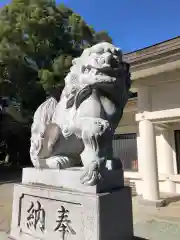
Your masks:
<svg viewBox="0 0 180 240"><path fill-rule="evenodd" d="M101 180L102 177L97 162L92 162L86 168L86 172L81 176L80 179L81 183L86 186L94 186Z"/></svg>

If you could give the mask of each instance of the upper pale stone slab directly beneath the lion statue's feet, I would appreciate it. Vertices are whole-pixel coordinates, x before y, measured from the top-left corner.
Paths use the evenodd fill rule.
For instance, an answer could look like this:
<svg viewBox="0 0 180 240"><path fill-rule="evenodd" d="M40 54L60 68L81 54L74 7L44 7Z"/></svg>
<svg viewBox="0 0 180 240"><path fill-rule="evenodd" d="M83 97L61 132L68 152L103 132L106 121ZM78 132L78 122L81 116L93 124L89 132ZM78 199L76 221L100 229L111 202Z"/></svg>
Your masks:
<svg viewBox="0 0 180 240"><path fill-rule="evenodd" d="M80 178L83 175L82 167L60 170L24 168L22 183L60 187L70 191L72 190L84 193L101 193L124 186L124 175L122 170L104 170L101 174L102 181L100 181L97 185L85 186L80 182Z"/></svg>

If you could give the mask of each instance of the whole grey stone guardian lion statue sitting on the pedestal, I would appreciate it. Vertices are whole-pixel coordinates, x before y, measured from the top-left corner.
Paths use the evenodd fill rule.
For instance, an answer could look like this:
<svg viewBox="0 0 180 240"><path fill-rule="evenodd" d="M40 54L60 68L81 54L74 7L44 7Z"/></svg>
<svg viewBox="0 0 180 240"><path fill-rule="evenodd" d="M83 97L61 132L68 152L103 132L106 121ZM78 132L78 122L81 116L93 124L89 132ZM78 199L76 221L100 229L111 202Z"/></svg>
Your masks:
<svg viewBox="0 0 180 240"><path fill-rule="evenodd" d="M60 101L49 98L34 114L34 166L62 169L82 162L81 183L95 185L102 169L113 168L112 139L130 85L119 49L106 42L85 49L73 60Z"/></svg>

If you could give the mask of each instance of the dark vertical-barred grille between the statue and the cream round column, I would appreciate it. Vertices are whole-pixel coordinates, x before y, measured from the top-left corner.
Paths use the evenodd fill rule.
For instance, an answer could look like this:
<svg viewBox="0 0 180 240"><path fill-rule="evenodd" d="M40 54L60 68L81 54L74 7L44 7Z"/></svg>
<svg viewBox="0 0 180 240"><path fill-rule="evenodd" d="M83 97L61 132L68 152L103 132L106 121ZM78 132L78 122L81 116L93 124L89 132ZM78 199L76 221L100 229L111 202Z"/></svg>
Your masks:
<svg viewBox="0 0 180 240"><path fill-rule="evenodd" d="M115 134L113 139L114 157L120 158L124 170L138 171L136 134Z"/></svg>

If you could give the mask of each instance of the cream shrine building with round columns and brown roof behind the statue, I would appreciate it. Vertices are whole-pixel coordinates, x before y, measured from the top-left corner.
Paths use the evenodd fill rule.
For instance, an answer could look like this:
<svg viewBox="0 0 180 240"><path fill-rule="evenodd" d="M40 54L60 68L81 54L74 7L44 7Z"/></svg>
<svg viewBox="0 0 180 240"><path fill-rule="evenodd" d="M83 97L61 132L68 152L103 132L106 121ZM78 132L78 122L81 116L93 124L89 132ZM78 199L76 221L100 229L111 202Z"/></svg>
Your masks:
<svg viewBox="0 0 180 240"><path fill-rule="evenodd" d="M145 200L180 194L180 37L124 55L131 96L113 148Z"/></svg>

